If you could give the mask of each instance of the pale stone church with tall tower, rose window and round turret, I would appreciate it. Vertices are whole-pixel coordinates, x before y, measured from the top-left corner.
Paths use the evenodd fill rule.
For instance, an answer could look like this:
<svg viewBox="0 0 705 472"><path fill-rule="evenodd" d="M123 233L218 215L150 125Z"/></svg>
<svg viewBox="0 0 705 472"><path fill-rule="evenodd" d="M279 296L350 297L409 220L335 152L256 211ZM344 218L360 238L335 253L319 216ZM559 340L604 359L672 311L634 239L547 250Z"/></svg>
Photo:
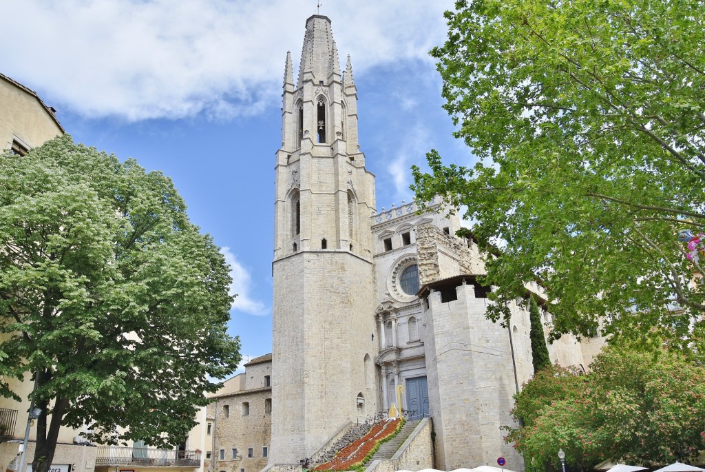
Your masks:
<svg viewBox="0 0 705 472"><path fill-rule="evenodd" d="M512 304L506 327L486 320L482 255L441 202L376 210L357 119L350 57L341 71L331 20L312 16L296 78L287 54L276 153L271 437L257 439L270 444L268 468L295 468L394 404L431 418L436 468L503 456L523 470L501 426L533 372L528 304ZM585 368L602 342L548 349Z"/></svg>

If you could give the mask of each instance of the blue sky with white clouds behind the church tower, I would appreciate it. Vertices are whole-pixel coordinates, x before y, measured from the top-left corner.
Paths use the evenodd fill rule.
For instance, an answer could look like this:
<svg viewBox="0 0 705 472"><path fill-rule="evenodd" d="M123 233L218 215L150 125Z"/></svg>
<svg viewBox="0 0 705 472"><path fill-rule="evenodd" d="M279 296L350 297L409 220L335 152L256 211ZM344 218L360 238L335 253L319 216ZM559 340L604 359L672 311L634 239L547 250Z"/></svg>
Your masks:
<svg viewBox="0 0 705 472"><path fill-rule="evenodd" d="M451 133L428 51L453 1L328 0L350 54L360 147L377 208L411 200L410 167L435 148L470 164ZM170 176L193 222L233 268L231 334L271 351L274 153L286 52L298 70L315 0L0 0L0 72L57 109L75 141Z"/></svg>

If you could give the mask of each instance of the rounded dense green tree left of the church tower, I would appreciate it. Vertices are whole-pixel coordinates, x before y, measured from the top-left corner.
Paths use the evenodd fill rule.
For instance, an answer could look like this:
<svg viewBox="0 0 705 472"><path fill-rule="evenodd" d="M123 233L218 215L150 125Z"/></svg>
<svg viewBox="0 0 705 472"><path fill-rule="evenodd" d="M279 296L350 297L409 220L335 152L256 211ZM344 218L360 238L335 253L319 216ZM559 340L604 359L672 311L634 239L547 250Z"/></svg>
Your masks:
<svg viewBox="0 0 705 472"><path fill-rule="evenodd" d="M34 381L33 469L47 472L60 425L109 444L183 441L209 377L240 361L230 283L161 173L69 136L0 155L0 394Z"/></svg>

